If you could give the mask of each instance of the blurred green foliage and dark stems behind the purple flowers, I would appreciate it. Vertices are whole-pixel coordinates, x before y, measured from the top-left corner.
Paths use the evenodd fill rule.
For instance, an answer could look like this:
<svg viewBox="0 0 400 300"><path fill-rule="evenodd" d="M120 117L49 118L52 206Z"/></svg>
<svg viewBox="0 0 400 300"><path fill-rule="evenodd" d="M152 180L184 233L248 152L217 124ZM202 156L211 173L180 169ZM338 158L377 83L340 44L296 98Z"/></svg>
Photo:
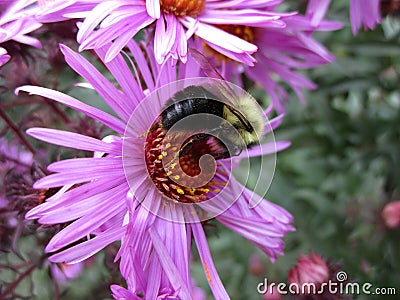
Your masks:
<svg viewBox="0 0 400 300"><path fill-rule="evenodd" d="M352 282L395 287L400 293L400 227L388 225L388 216L382 213L389 202L400 200L399 16L391 13L375 30L361 30L353 36L348 1L332 2L327 19L343 22L344 28L319 32L316 37L336 56L336 61L304 72L318 88L305 92L305 104L292 95L282 125L275 131L276 140L292 142L290 148L277 154L275 175L265 195L294 216L296 231L284 239L285 255L272 264L254 245L223 226L211 222L207 227L217 270L232 299L273 299L257 293L257 285L264 278L268 282L288 282L289 270L301 254L309 255L309 251L324 258L332 268L345 271ZM302 9L301 1L288 3L294 9ZM57 30L63 32L62 28ZM67 44L73 44L73 38L65 38ZM24 64L25 70L17 72L7 65L0 70L2 112L22 132L49 123L62 127L66 122L91 130L92 136L104 136L100 126L92 126L92 121L75 111L25 95L17 100L13 94L15 87L32 83L34 78L35 84L86 99L92 105L103 103L94 92L73 87L80 79L70 69L58 69L62 64L56 48L55 40L45 45L47 55L54 58L52 65L43 63L46 57L33 54L35 60L25 58L30 62ZM268 96L260 88L249 89L267 106ZM15 132L2 122L2 138L15 139ZM42 166L34 172L60 157L85 156L25 138L43 152ZM254 162L257 164L257 159ZM16 182L10 177L12 174L2 176L3 186ZM18 190L21 185L13 188ZM397 218L399 214L398 209ZM118 266L113 263L118 245L111 245L86 261L75 279L55 282L55 273L43 253L51 232L57 229L24 222L21 216L15 224L5 222L0 221L4 251L0 256L0 292L13 282L15 295L21 299L56 299L55 294L59 299L107 299L109 285L122 282ZM3 239L4 230L15 234ZM30 262L35 265L32 269ZM24 275L26 270L29 272ZM192 274L207 299L212 299L195 255Z"/></svg>

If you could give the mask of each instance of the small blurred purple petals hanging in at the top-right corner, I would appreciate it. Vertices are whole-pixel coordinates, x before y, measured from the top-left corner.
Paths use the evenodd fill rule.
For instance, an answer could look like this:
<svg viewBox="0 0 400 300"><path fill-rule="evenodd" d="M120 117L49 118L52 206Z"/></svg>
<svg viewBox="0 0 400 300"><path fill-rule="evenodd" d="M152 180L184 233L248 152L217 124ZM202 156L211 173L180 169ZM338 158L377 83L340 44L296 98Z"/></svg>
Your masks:
<svg viewBox="0 0 400 300"><path fill-rule="evenodd" d="M380 0L350 0L350 21L354 35L361 27L374 29L381 22Z"/></svg>

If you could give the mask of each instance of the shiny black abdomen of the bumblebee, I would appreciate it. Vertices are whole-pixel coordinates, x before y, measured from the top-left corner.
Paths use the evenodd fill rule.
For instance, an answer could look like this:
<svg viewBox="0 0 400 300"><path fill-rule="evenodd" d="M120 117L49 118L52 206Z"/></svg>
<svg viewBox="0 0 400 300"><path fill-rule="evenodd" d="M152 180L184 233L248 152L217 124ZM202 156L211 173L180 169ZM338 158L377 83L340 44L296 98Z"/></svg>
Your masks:
<svg viewBox="0 0 400 300"><path fill-rule="evenodd" d="M177 92L167 101L167 107L161 113L163 128L168 130L191 115L210 114L222 118L224 103L215 99L215 95L201 86L189 86ZM213 129L220 123L215 117L203 115L194 119L187 129Z"/></svg>

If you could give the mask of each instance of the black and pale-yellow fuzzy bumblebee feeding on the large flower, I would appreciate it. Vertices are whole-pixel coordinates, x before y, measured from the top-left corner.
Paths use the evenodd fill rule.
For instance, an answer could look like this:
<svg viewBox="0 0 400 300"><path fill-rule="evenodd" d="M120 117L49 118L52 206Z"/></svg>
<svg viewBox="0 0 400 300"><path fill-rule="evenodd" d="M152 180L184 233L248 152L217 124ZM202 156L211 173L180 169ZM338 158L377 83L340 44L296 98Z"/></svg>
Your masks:
<svg viewBox="0 0 400 300"><path fill-rule="evenodd" d="M194 134L183 143L171 163L197 143L212 136L223 141L220 144L222 150L212 154L215 159L239 155L244 148L249 148L259 142L264 130L262 111L248 94L236 95L208 60L201 53L191 50L206 75L217 78L215 82L218 84L209 88L203 85L191 85L177 92L167 100L159 121L153 126L162 127L168 131L180 120L202 114L201 121L192 122L189 128L184 127L180 130L200 130L205 133Z"/></svg>

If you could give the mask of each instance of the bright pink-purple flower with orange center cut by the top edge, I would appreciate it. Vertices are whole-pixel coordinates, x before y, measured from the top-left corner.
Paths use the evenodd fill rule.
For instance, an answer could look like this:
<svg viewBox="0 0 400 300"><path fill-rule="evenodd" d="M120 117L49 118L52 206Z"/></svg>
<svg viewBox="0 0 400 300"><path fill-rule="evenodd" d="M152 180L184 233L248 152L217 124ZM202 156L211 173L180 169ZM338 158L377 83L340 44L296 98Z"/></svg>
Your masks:
<svg viewBox="0 0 400 300"><path fill-rule="evenodd" d="M114 41L106 61L114 58L136 33L152 25L155 57L159 64L172 58L187 59L187 42L193 35L214 50L253 65L257 47L220 25L282 28L282 16L273 11L283 0L136 0L59 1L42 11L39 20L54 22L84 18L79 27L80 50L96 49Z"/></svg>

